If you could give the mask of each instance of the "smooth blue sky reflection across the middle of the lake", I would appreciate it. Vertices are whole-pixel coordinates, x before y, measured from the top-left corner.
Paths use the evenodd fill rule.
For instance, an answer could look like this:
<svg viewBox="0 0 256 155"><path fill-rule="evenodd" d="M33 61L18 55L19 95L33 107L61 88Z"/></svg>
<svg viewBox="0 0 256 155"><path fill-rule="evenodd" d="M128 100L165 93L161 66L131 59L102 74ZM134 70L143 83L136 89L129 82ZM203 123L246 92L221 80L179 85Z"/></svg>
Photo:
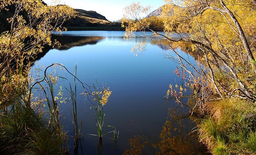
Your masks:
<svg viewBox="0 0 256 155"><path fill-rule="evenodd" d="M133 55L130 50L136 41L127 42L121 31L67 31L68 35L79 36L104 36L106 39L95 45L84 45L69 48L69 50L50 50L38 62L50 65L58 62L64 64L69 71L74 72L77 65L77 77L89 85L95 83L97 78L99 87L107 83L112 95L104 106L106 112L105 124L112 125L119 130L118 148L106 148L106 154L121 154L129 147L128 139L135 134L147 136L159 135L162 125L166 121L167 107L161 106L164 102L169 84L175 84L175 71L177 64L169 59L163 59L166 51L148 44L147 51L140 56ZM101 34L101 35L100 35ZM34 66L35 67L35 66ZM73 77L65 75L71 83ZM177 81L180 81L177 80ZM68 86L67 82L61 83L62 87ZM56 89L59 89L58 87ZM78 85L78 93L83 90ZM96 123L90 103L84 98L78 98L79 120L83 120L83 133L96 134ZM174 103L169 103L175 105ZM69 107L61 105L62 121L66 129L72 133ZM80 122L78 122L80 124ZM107 131L107 127L104 129ZM70 133L70 134L71 134ZM107 135L106 137L112 137ZM105 145L111 140L103 139ZM85 134L82 141L85 154L95 154L97 151L97 137Z"/></svg>

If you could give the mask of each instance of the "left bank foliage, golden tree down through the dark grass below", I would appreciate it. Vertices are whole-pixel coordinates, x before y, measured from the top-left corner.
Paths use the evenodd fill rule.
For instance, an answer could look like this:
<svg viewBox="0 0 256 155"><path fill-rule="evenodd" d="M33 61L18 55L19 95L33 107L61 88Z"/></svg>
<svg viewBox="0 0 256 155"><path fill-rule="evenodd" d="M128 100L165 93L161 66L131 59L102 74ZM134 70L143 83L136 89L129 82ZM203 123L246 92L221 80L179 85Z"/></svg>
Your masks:
<svg viewBox="0 0 256 155"><path fill-rule="evenodd" d="M58 107L49 108L57 123L51 117L47 124L43 102L51 100L33 96L30 84L37 79L31 79L29 71L44 45L59 46L52 42L51 33L63 30L62 23L74 17L74 10L66 5L47 6L42 0L0 0L0 14L4 11L11 17L5 19L9 30L0 34L0 152L62 154L64 135ZM47 77L50 84L55 83L53 74ZM53 96L52 104L57 106L55 103Z"/></svg>

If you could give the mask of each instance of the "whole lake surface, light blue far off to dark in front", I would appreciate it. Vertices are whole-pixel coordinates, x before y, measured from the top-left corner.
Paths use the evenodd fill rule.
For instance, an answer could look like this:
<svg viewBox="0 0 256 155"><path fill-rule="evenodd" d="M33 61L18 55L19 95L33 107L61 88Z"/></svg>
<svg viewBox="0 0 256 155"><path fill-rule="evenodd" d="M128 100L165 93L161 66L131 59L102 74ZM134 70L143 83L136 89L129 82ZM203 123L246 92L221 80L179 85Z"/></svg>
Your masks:
<svg viewBox="0 0 256 155"><path fill-rule="evenodd" d="M177 83L180 81L179 77L173 73L178 64L164 57L167 53L172 54L166 43L149 42L147 50L135 56L136 53L131 53L130 50L138 41L143 40L141 38L124 40L123 33L123 31L68 31L63 33L63 36L55 36L62 43L62 47L49 50L38 62L35 62L32 71L35 71L36 67L58 62L73 73L74 66L77 65L77 77L81 81L92 85L97 79L99 87L107 84L112 94L109 102L104 105L106 114L104 124L115 126L119 131L119 137L115 146L114 140L111 139L112 133L103 136L101 148L103 154L121 155L131 148L129 139L134 138L135 135L139 136L140 140L148 141L148 145L143 149L144 154L156 154L160 150L157 140L161 140L160 134L164 133L162 130L166 121L171 120L175 115L186 115L185 109L175 110L174 101L164 103L163 99L169 84L175 85L175 81ZM190 59L194 60L193 57ZM73 84L73 77L67 72L62 72L60 71L59 75L66 77ZM67 81L58 84L63 88L68 87ZM56 85L55 89L58 90L59 85ZM77 84L78 94L82 91L81 86ZM99 138L90 135L97 134L94 110L90 109L91 103L87 102L83 96L78 96L77 99L78 124L83 121L83 140L80 145L83 154L100 154L97 151ZM59 105L61 122L68 134L72 136L73 124L70 109L72 109L71 103ZM162 139L167 140L167 137L170 137L174 140L178 136L180 140L169 141L173 143L169 147L173 147L174 150L177 148L182 150L184 147L182 154L202 154L204 151L198 147L199 143L185 139L186 136L183 134L189 133L189 127L193 126L186 123L188 116L184 118L185 124L181 132L174 130L179 127L174 123L171 129L173 133L166 134L166 137L162 136ZM103 133L111 130L112 128L104 126ZM69 146L72 150L72 137L70 139ZM187 146L188 143L189 146ZM152 148L152 144L155 144L156 148ZM194 153L187 152L186 149L191 151L192 148ZM82 154L81 150L80 154Z"/></svg>

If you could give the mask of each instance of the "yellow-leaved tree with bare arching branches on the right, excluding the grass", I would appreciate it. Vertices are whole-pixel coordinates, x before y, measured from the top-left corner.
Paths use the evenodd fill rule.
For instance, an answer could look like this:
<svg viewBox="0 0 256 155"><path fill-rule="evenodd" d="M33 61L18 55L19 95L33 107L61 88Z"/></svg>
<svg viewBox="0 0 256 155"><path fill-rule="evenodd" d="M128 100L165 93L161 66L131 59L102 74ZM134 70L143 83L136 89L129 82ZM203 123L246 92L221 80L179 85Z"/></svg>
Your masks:
<svg viewBox="0 0 256 155"><path fill-rule="evenodd" d="M189 74L183 77L187 82L179 88L184 90L189 83L187 88L197 89L194 89L194 97L197 98L196 105L202 108L202 114L205 112L204 104L209 100L239 97L254 101L256 99L254 0L166 0L165 2L163 8L165 34L153 31L151 36L144 35L144 37L153 39L158 35L161 36L158 40L168 40L170 48L177 54L177 57L169 58L179 62L181 74ZM142 6L136 5L128 6L133 7L133 11L126 14L122 20L127 37L136 34L136 31L150 30L150 21L139 16L147 8L142 9ZM138 16L140 18L137 18ZM173 33L176 34L175 37ZM197 67L177 51L177 47L187 43L191 43L192 51L200 55ZM172 87L168 94L172 95L170 98L182 103L181 90L174 88L176 91L173 90L171 93L171 89ZM181 94L177 95L178 93ZM194 107L190 107L190 110L193 109Z"/></svg>

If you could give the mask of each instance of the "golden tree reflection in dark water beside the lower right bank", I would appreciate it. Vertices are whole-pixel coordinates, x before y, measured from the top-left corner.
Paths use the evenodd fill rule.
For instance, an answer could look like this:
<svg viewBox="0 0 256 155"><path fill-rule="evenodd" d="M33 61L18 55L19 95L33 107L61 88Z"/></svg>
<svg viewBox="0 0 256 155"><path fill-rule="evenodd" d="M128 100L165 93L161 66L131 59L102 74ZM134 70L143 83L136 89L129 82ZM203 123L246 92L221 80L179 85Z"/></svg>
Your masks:
<svg viewBox="0 0 256 155"><path fill-rule="evenodd" d="M190 100L189 102L191 102ZM163 125L159 139L152 144L156 155L208 155L205 146L198 142L197 132L192 132L196 126L194 117L181 107L171 107ZM147 149L148 140L142 136L130 139L130 149L123 155L143 154Z"/></svg>

